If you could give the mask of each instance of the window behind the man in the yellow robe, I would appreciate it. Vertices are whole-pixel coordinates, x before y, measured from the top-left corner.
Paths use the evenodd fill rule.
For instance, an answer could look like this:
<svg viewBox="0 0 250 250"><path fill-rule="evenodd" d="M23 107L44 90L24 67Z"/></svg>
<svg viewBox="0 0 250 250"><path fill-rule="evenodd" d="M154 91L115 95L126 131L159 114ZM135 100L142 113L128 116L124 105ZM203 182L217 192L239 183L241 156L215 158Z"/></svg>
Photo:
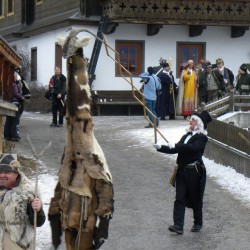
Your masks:
<svg viewBox="0 0 250 250"><path fill-rule="evenodd" d="M176 77L181 75L181 67L188 60L193 60L195 65L205 58L205 43L177 42Z"/></svg>

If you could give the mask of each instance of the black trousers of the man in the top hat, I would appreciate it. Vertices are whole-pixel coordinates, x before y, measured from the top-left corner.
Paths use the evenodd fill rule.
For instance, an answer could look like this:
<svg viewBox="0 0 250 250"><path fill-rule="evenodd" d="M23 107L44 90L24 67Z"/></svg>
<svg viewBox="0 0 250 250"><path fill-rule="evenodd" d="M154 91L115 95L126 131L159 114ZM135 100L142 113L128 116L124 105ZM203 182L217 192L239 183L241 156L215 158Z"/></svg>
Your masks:
<svg viewBox="0 0 250 250"><path fill-rule="evenodd" d="M202 226L203 201L200 194L200 176L195 168L181 168L176 176L176 198L174 202L174 224L184 226L187 197L193 209L194 224Z"/></svg>

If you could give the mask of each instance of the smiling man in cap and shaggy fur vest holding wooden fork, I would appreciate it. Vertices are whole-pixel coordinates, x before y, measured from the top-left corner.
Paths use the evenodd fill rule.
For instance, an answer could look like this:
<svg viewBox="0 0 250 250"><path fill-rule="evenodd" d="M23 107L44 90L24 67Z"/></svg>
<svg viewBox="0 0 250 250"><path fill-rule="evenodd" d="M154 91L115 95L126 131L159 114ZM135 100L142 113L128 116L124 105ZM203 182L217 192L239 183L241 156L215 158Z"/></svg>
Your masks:
<svg viewBox="0 0 250 250"><path fill-rule="evenodd" d="M45 222L34 187L11 154L0 155L0 249L34 249L34 214L38 227Z"/></svg>

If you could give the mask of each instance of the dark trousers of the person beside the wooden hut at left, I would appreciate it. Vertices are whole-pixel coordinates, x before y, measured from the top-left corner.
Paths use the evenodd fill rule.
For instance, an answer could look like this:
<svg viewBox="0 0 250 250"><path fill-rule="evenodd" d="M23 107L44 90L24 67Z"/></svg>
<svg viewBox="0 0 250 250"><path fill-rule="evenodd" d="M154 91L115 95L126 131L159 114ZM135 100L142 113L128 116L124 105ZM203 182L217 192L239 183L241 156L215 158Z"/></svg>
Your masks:
<svg viewBox="0 0 250 250"><path fill-rule="evenodd" d="M19 123L21 114L17 111L16 116L6 116L4 124L4 138L19 138Z"/></svg>

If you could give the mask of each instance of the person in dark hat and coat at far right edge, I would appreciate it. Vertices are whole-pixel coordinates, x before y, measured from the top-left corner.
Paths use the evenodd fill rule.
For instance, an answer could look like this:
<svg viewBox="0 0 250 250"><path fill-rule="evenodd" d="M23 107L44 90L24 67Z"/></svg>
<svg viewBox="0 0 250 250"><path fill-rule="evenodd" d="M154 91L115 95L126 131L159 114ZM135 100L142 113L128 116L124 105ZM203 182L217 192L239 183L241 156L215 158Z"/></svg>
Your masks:
<svg viewBox="0 0 250 250"><path fill-rule="evenodd" d="M240 95L250 94L250 75L247 73L247 65L243 63L240 66L239 74L236 77L236 91Z"/></svg>

